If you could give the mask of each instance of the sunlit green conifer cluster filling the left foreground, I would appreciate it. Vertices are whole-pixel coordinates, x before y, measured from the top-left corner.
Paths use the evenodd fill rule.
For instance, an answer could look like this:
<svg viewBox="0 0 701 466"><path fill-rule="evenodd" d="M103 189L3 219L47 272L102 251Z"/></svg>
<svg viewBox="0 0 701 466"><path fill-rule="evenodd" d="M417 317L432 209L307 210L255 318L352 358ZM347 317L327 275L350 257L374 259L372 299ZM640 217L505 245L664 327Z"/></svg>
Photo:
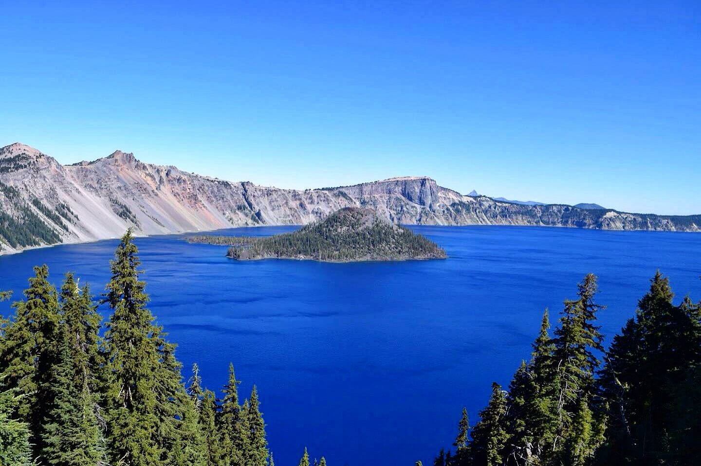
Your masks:
<svg viewBox="0 0 701 466"><path fill-rule="evenodd" d="M128 231L99 300L72 273L56 289L47 266L34 268L0 322L0 466L274 465L257 388L242 402L233 365L221 399L196 364L183 383L137 252ZM111 312L104 324L98 303Z"/></svg>

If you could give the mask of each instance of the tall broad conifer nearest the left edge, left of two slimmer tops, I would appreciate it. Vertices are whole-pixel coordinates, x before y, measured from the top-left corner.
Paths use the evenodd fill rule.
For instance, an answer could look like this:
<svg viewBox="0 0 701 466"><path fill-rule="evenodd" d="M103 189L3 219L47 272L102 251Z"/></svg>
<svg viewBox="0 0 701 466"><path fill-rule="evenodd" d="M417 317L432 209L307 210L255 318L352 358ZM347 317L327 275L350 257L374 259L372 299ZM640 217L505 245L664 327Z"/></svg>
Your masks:
<svg viewBox="0 0 701 466"><path fill-rule="evenodd" d="M14 303L15 319L6 326L0 369L6 386L20 395L18 413L29 424L32 457L44 448L41 434L53 406L51 369L57 360L58 299L48 282L48 267L34 267L25 301Z"/></svg>

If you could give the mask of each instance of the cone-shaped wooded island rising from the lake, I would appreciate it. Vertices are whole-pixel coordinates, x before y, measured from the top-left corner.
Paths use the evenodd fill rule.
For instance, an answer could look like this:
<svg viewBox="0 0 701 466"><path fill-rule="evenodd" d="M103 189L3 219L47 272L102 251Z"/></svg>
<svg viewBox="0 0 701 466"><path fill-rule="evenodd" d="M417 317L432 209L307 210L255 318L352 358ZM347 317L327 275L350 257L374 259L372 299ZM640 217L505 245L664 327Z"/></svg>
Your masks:
<svg viewBox="0 0 701 466"><path fill-rule="evenodd" d="M445 251L425 236L358 207L343 208L292 233L265 237L200 235L189 241L231 245L226 255L233 259L374 261L445 257Z"/></svg>

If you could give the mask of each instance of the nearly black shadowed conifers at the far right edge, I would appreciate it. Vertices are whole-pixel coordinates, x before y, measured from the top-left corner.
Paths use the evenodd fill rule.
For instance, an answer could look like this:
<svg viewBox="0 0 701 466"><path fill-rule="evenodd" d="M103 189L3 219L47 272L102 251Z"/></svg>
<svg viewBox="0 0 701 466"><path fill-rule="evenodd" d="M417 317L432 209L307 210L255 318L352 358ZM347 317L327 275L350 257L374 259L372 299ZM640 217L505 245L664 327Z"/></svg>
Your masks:
<svg viewBox="0 0 701 466"><path fill-rule="evenodd" d="M608 461L687 464L695 458L697 442L688 439L699 432L698 404L692 406L699 399L701 318L698 305L684 299L674 306L673 298L658 272L606 354L601 387L612 422L601 457Z"/></svg>

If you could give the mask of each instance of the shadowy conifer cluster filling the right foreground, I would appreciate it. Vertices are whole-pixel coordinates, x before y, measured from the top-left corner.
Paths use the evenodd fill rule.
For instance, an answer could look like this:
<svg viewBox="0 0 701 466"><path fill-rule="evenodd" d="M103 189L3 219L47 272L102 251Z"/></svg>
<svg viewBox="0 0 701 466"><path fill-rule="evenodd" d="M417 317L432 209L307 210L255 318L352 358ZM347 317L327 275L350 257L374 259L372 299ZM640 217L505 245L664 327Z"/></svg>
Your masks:
<svg viewBox="0 0 701 466"><path fill-rule="evenodd" d="M547 310L529 362L491 397L434 466L696 465L701 461L701 303L679 305L659 272L608 350L596 324L597 277ZM417 465L421 462L417 462Z"/></svg>

